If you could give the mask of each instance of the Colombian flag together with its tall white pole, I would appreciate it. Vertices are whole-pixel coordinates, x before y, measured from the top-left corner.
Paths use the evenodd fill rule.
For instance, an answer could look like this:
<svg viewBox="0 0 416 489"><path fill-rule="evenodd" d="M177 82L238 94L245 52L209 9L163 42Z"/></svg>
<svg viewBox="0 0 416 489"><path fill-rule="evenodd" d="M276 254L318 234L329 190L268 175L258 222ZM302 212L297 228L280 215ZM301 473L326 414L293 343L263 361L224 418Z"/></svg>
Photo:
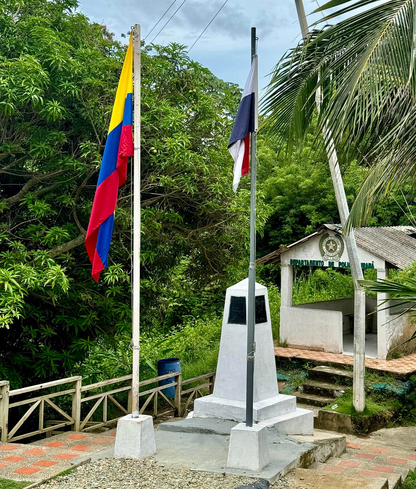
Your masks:
<svg viewBox="0 0 416 489"><path fill-rule="evenodd" d="M134 144L133 125L134 65ZM98 282L108 266L118 188L126 182L127 159L133 158L133 298L132 298L132 411L139 411L139 310L140 310L140 25L135 24L118 82L109 132L92 204L85 247L92 263L92 278ZM130 406L129 406L130 407Z"/></svg>

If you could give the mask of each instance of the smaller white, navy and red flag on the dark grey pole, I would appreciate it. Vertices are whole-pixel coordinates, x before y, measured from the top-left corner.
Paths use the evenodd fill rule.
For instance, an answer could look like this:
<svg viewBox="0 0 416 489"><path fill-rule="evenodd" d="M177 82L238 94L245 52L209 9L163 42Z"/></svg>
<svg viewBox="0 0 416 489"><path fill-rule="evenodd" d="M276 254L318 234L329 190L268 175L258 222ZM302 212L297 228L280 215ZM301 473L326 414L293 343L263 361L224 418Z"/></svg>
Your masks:
<svg viewBox="0 0 416 489"><path fill-rule="evenodd" d="M241 96L228 151L234 160L232 190L237 191L240 178L249 173L250 133L257 130L257 56L254 56L249 77Z"/></svg>

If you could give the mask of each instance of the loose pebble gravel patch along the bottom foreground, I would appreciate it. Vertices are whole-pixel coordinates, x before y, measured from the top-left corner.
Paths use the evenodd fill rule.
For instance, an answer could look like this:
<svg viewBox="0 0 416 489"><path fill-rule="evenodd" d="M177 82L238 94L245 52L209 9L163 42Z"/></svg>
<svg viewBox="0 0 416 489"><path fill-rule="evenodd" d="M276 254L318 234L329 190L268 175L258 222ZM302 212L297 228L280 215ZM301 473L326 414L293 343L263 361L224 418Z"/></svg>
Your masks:
<svg viewBox="0 0 416 489"><path fill-rule="evenodd" d="M147 458L140 462L106 458L77 467L68 475L59 476L40 486L41 489L266 489L266 481L255 481L231 474L213 474L168 468ZM284 480L270 486L272 489L295 488Z"/></svg>

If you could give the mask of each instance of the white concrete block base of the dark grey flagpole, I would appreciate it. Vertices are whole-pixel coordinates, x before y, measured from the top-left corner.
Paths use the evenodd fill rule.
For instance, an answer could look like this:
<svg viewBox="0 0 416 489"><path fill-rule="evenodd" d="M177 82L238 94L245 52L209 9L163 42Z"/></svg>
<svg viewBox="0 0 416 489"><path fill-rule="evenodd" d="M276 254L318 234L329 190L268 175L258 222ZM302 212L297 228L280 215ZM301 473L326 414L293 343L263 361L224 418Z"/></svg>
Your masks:
<svg viewBox="0 0 416 489"><path fill-rule="evenodd" d="M259 472L270 462L267 426L238 423L231 428L227 467Z"/></svg>

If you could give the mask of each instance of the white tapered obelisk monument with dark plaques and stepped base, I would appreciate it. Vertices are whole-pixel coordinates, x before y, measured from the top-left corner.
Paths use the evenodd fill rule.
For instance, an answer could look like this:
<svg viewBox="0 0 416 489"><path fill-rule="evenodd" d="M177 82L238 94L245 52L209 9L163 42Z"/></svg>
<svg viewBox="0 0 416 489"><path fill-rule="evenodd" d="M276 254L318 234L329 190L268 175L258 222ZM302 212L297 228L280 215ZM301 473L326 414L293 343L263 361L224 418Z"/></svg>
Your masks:
<svg viewBox="0 0 416 489"><path fill-rule="evenodd" d="M263 301L265 315L258 315L254 331L253 420L285 434L312 435L313 412L297 409L295 396L279 394L267 288L255 284L255 296ZM247 307L245 318L244 311L240 316L230 313L236 298L247 305L248 279L227 289L213 393L195 399L194 418L246 421Z"/></svg>

